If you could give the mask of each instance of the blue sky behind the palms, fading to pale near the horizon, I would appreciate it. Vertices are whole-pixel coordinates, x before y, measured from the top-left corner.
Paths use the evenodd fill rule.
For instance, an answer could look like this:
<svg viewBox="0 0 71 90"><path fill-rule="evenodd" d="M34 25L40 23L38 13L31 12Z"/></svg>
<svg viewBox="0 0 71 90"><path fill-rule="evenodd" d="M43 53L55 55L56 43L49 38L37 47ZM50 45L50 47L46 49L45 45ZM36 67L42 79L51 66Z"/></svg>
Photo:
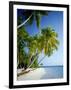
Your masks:
<svg viewBox="0 0 71 90"><path fill-rule="evenodd" d="M56 66L63 65L63 12L62 11L51 11L47 16L43 16L40 22L41 28L52 27L58 33L58 40L60 42L58 50L55 51L50 57L46 56L41 62L43 66ZM27 32L33 36L38 34L39 30L36 27L35 20L32 25L26 25ZM38 62L44 57L41 53Z"/></svg>

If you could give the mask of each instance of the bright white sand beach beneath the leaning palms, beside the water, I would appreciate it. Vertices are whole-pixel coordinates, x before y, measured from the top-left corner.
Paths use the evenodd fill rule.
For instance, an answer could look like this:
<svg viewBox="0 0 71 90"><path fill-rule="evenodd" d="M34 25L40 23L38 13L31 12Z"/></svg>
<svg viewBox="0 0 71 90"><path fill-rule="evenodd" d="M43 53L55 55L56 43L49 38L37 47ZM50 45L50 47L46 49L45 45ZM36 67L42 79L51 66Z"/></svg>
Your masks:
<svg viewBox="0 0 71 90"><path fill-rule="evenodd" d="M21 70L18 70L18 73L20 73ZM45 73L46 72L45 72L45 69L44 68L37 68L35 70L29 71L26 74L23 74L23 75L18 76L17 80L19 80L19 81L20 80L37 80L37 79L42 78Z"/></svg>

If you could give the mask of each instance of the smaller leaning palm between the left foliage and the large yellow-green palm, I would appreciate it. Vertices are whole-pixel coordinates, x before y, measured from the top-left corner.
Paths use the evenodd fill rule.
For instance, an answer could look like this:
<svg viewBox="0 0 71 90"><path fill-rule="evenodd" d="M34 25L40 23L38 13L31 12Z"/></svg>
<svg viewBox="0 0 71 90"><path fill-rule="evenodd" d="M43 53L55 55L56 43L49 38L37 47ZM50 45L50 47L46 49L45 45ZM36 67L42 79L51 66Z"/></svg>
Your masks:
<svg viewBox="0 0 71 90"><path fill-rule="evenodd" d="M37 43L38 37L37 35L32 37L30 41L28 42L28 48L29 48L29 65L28 68L34 64L35 60L38 58L38 43Z"/></svg>

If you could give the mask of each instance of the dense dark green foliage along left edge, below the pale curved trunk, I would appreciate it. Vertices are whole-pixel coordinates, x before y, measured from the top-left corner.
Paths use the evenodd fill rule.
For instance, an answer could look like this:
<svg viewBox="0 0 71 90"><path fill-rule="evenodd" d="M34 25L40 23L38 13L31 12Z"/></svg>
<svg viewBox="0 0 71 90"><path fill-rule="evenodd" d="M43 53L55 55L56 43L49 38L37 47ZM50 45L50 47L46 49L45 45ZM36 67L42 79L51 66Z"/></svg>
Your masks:
<svg viewBox="0 0 71 90"><path fill-rule="evenodd" d="M28 33L26 32L24 27L17 30L17 59L18 59L17 67L18 68L27 67L27 55L24 51L27 38L28 38Z"/></svg>

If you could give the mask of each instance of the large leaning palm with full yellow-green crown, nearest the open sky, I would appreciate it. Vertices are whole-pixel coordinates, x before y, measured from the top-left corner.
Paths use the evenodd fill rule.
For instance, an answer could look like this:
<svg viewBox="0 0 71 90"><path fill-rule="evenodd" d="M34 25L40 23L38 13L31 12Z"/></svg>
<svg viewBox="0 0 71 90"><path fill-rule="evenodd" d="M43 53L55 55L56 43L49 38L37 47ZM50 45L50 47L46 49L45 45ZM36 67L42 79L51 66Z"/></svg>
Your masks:
<svg viewBox="0 0 71 90"><path fill-rule="evenodd" d="M51 27L47 27L42 29L41 37L39 40L39 50L43 51L45 56L51 56L55 50L58 49L59 41L57 39L58 35ZM40 62L45 58L45 56L38 62Z"/></svg>

